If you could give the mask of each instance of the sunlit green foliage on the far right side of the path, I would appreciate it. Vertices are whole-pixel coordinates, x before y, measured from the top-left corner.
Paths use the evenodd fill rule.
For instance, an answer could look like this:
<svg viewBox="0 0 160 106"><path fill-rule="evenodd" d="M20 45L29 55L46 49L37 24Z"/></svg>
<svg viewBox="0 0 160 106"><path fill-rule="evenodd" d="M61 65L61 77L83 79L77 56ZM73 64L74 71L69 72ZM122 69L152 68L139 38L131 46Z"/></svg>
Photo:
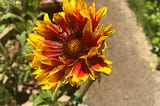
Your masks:
<svg viewBox="0 0 160 106"><path fill-rule="evenodd" d="M160 0L128 0L128 3L153 45L160 65Z"/></svg>

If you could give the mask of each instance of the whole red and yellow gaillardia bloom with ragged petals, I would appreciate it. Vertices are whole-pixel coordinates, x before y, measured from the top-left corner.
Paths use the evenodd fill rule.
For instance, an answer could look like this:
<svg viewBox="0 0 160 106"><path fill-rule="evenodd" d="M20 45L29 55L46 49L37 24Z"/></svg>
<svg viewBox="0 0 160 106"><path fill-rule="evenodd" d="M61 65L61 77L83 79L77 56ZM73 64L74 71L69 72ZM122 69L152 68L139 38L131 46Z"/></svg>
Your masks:
<svg viewBox="0 0 160 106"><path fill-rule="evenodd" d="M107 8L96 11L95 3L88 6L84 0L63 0L62 8L52 21L45 14L28 38L32 52L26 57L32 60L35 79L42 89L52 91L61 83L79 86L87 79L100 81L100 73L111 73L112 62L102 52L115 30L98 25Z"/></svg>

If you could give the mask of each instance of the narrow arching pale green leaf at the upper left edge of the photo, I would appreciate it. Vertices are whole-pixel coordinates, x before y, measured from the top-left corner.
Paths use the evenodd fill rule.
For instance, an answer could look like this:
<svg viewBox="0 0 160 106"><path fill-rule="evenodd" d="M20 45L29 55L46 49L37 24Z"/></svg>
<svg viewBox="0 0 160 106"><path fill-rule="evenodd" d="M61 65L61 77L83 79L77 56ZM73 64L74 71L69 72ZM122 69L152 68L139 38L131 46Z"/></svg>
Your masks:
<svg viewBox="0 0 160 106"><path fill-rule="evenodd" d="M4 14L2 17L1 17L1 21L4 21L4 20L7 20L7 19L18 19L20 21L24 21L24 19L19 16L19 15L16 15L14 13L11 13L11 12L8 12L6 14Z"/></svg>

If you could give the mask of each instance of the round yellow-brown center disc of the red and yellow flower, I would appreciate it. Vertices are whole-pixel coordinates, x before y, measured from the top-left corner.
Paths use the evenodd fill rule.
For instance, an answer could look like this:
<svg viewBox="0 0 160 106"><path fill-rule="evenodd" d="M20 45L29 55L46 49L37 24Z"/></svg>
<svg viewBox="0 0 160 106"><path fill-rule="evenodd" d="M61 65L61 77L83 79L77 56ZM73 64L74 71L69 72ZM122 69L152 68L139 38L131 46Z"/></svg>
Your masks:
<svg viewBox="0 0 160 106"><path fill-rule="evenodd" d="M64 45L66 54L71 57L77 57L82 46L82 42L77 38L72 38Z"/></svg>

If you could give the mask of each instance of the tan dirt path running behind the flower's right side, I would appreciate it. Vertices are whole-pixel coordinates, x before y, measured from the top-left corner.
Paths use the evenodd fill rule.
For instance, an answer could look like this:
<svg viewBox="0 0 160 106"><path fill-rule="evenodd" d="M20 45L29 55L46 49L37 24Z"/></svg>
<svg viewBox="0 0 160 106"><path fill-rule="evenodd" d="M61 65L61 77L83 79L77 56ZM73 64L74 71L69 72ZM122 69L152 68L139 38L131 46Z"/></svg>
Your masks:
<svg viewBox="0 0 160 106"><path fill-rule="evenodd" d="M89 92L89 106L160 106L160 73L154 71L156 56L145 34L136 23L126 0L88 0L98 7L108 6L101 21L112 23L117 30L108 39L111 50L106 54L114 62L113 72L95 82Z"/></svg>

